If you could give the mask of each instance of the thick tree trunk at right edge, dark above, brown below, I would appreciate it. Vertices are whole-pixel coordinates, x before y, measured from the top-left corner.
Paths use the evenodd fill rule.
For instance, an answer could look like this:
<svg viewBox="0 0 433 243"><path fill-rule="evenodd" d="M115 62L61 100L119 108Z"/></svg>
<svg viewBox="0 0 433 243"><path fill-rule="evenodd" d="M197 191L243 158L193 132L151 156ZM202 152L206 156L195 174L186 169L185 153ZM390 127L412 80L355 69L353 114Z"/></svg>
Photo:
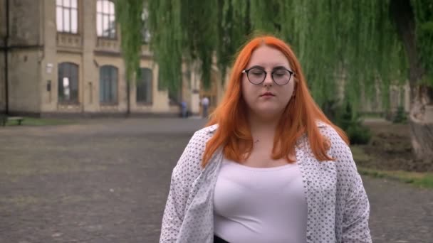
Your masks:
<svg viewBox="0 0 433 243"><path fill-rule="evenodd" d="M414 155L417 159L433 163L433 114L429 114L433 95L431 88L419 85L424 69L417 52L414 12L410 0L391 0L390 13L409 61L409 126Z"/></svg>

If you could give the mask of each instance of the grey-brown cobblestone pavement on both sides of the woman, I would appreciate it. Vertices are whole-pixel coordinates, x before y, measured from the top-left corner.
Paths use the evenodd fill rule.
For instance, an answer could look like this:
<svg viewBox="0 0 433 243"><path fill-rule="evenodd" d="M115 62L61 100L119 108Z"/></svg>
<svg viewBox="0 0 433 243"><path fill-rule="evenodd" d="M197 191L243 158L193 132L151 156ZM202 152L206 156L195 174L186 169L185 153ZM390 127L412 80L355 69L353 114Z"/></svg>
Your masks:
<svg viewBox="0 0 433 243"><path fill-rule="evenodd" d="M202 119L0 127L0 242L158 242L174 164ZM373 242L433 242L433 190L364 178Z"/></svg>

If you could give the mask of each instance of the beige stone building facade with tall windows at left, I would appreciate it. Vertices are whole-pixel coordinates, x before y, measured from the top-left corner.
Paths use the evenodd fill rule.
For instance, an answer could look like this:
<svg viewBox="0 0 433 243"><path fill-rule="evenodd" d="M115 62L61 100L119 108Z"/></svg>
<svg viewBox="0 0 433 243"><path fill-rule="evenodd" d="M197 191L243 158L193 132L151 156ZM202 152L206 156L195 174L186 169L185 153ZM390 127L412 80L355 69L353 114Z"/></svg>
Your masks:
<svg viewBox="0 0 433 243"><path fill-rule="evenodd" d="M184 101L198 114L199 75L185 64L179 93L160 90L148 31L128 85L119 28L110 0L0 0L0 112L177 116Z"/></svg>

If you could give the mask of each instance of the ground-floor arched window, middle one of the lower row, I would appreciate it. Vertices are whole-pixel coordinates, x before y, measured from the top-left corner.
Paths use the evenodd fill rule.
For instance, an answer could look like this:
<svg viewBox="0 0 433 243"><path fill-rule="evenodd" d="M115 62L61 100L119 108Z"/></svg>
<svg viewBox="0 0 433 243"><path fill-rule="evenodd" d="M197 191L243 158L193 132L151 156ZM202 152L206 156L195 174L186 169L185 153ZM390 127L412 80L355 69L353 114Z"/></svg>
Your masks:
<svg viewBox="0 0 433 243"><path fill-rule="evenodd" d="M100 68L99 100L110 104L118 102L118 68L111 65Z"/></svg>

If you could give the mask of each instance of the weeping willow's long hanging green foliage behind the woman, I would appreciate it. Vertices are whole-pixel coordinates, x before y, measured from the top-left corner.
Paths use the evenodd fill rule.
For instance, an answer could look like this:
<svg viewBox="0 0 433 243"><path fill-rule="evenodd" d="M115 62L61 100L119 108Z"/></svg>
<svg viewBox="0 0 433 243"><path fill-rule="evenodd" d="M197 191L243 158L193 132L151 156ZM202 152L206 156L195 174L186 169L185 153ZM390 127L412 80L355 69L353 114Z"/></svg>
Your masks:
<svg viewBox="0 0 433 243"><path fill-rule="evenodd" d="M342 84L354 108L361 101L360 90L368 99L377 87L387 104L390 85L407 80L412 119L422 119L425 105L433 99L431 0L150 0L147 4L150 45L160 65L160 81L169 90L179 88L182 62L201 63L202 82L209 87L212 57L225 72L239 46L251 33L261 32L291 44L319 104L334 99ZM120 25L129 28L127 21ZM122 32L122 38L124 34L133 33ZM125 55L126 64L136 55ZM419 158L433 153L432 135L426 134L412 139L414 147L432 143L416 150Z"/></svg>

